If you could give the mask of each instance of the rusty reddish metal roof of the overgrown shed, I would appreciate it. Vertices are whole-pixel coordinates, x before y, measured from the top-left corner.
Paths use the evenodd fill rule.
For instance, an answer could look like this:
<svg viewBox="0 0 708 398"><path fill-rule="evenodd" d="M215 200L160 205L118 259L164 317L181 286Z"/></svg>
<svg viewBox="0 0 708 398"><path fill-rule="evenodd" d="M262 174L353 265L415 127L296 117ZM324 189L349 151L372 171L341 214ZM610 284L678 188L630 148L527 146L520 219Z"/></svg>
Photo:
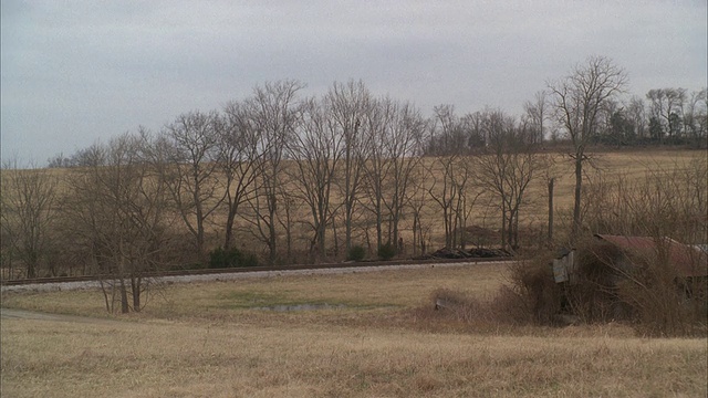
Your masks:
<svg viewBox="0 0 708 398"><path fill-rule="evenodd" d="M669 262L676 268L678 276L708 276L708 255L706 252L670 238L623 237L595 234L617 248L636 254L655 258L660 250L668 252Z"/></svg>

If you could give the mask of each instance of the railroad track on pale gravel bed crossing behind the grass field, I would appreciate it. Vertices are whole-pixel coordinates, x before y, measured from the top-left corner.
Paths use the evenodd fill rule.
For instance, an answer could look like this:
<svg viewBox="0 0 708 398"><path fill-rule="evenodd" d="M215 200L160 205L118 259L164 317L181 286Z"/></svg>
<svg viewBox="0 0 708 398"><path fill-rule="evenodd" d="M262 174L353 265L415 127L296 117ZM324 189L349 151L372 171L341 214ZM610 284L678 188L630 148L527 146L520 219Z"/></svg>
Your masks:
<svg viewBox="0 0 708 398"><path fill-rule="evenodd" d="M342 262L342 263L330 263L330 264L296 264L296 265L285 265L285 266L248 266L248 268L229 268L229 269L160 271L160 272L145 272L142 274L142 276L143 277L191 276L191 275L235 274L235 273L247 273L247 272L278 272L278 271L298 271L298 270L368 268L368 266L477 263L477 262L494 262L494 261L509 261L509 260L511 260L511 258L466 258L466 259L366 261L366 262ZM21 285L30 285L30 284L91 282L91 281L101 281L105 279L112 279L112 276L111 275L84 275L84 276L33 277L33 279L22 279L22 280L1 280L0 285L1 286L21 286Z"/></svg>

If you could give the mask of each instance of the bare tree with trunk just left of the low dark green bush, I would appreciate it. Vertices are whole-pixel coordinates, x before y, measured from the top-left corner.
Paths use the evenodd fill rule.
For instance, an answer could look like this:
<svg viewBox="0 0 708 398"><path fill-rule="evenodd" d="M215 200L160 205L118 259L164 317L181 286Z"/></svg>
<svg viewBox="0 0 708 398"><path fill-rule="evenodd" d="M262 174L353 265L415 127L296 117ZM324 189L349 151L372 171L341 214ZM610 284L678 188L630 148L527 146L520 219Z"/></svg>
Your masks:
<svg viewBox="0 0 708 398"><path fill-rule="evenodd" d="M165 181L200 261L206 261L207 220L220 207L226 191L219 181L218 115L191 112L179 115L163 133L169 167Z"/></svg>

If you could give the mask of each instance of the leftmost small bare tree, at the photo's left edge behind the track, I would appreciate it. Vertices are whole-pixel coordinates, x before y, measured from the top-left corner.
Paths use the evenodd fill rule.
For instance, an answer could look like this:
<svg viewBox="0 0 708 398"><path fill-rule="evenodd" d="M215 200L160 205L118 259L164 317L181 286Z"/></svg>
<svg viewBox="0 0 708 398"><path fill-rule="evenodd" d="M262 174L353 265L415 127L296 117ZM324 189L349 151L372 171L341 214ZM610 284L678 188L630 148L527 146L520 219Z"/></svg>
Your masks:
<svg viewBox="0 0 708 398"><path fill-rule="evenodd" d="M46 169L19 169L17 159L3 165L1 176L2 243L10 243L27 277L35 277L52 242L50 233L59 212L58 179ZM54 266L49 269L56 274Z"/></svg>

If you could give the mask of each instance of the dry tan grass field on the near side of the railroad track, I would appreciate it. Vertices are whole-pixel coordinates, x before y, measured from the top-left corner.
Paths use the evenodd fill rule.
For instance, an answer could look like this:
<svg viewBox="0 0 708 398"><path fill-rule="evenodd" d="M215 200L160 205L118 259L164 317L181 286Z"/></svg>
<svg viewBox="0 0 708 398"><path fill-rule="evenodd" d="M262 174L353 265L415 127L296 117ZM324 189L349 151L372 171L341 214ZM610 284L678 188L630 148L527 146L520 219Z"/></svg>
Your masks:
<svg viewBox="0 0 708 398"><path fill-rule="evenodd" d="M477 264L162 286L112 316L97 291L4 293L2 397L706 397L704 339L628 326L461 324L437 289L488 297ZM320 305L280 312L278 305Z"/></svg>

